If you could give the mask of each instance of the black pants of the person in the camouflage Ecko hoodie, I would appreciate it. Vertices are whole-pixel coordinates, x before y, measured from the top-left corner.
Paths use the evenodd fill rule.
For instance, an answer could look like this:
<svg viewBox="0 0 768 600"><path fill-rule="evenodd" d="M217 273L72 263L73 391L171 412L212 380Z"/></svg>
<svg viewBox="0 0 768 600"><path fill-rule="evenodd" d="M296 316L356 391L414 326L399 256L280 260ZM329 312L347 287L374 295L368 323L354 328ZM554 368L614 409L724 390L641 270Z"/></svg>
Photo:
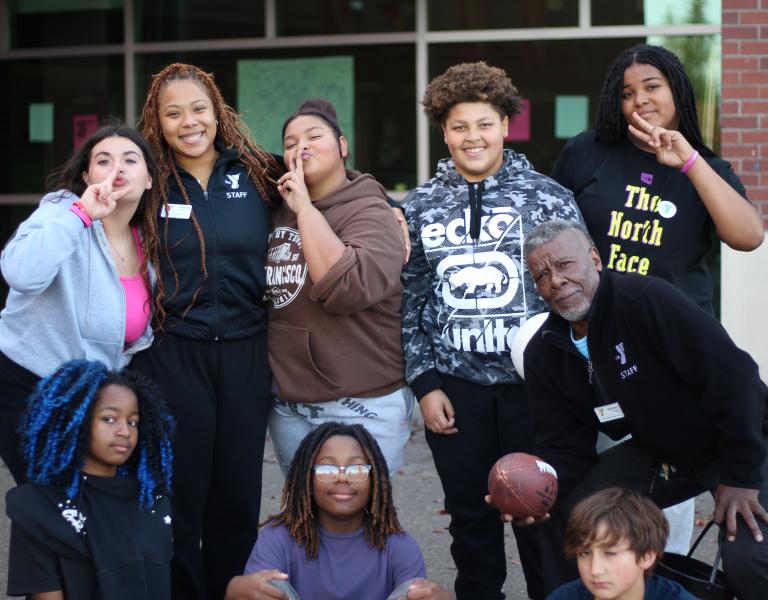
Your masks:
<svg viewBox="0 0 768 600"><path fill-rule="evenodd" d="M498 600L507 577L504 523L485 503L488 473L501 456L531 452L533 433L522 385L483 386L443 375L456 414L454 435L426 430L445 508L451 515L451 554L458 600ZM528 596L544 598L538 528L513 527Z"/></svg>

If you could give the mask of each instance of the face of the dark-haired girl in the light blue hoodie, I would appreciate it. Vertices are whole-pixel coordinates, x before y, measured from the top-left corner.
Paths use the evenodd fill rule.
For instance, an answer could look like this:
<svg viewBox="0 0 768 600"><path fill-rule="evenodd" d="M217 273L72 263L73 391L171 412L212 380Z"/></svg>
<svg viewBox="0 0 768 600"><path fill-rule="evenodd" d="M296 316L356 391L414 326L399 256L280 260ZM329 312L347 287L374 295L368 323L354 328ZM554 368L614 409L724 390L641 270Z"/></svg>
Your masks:
<svg viewBox="0 0 768 600"><path fill-rule="evenodd" d="M112 187L121 189L127 186L131 189L120 199L120 203L138 202L144 191L152 187L152 178L141 148L128 138L115 135L96 144L91 150L83 181L86 185L101 183L115 164L118 165L118 173Z"/></svg>

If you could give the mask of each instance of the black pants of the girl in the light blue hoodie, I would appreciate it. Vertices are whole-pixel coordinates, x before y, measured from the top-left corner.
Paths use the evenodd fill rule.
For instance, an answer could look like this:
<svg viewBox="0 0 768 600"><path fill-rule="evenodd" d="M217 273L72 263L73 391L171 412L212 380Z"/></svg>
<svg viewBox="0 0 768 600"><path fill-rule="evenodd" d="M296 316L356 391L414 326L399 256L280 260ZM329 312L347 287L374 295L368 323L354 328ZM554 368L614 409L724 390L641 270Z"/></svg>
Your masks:
<svg viewBox="0 0 768 600"><path fill-rule="evenodd" d="M40 378L0 352L0 457L16 483L26 481L19 420Z"/></svg>

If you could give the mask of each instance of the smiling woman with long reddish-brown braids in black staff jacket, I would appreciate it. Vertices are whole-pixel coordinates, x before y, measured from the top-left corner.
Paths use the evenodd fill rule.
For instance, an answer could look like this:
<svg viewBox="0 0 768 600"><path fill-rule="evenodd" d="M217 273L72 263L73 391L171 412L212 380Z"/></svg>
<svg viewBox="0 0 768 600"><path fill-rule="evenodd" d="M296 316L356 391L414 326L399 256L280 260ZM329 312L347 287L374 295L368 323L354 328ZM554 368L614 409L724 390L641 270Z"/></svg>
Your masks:
<svg viewBox="0 0 768 600"><path fill-rule="evenodd" d="M280 169L192 65L153 77L141 124L158 161L145 221L158 331L134 366L160 384L178 423L174 597L220 600L258 533L270 398L264 260Z"/></svg>

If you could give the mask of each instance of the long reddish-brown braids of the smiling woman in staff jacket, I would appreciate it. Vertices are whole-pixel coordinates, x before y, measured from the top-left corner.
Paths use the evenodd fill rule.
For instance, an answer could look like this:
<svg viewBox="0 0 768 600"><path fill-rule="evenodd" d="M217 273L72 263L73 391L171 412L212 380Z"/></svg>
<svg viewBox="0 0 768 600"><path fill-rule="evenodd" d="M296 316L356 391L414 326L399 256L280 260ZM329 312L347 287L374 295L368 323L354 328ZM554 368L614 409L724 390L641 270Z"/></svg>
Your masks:
<svg viewBox="0 0 768 600"><path fill-rule="evenodd" d="M183 63L173 63L165 67L162 71L152 77L152 82L147 92L147 99L144 102L144 108L141 111L139 125L142 135L147 138L152 150L157 157L158 177L157 184L152 186L149 202L149 210L146 211L143 233L145 253L149 257L152 266L158 273L157 287L155 293L155 325L158 329L163 329L165 323L164 301L166 297L173 298L179 291L179 275L171 260L170 250L166 245L161 249L160 234L158 231L158 217L160 207L165 207L168 211L168 180L171 176L176 181L184 202L190 204L189 194L184 186L184 182L179 176L179 171L173 157L173 151L168 146L163 136L163 130L160 126L160 95L163 88L173 81L194 81L205 91L211 99L213 111L216 115L216 142L221 143L226 148L233 148L237 151L239 161L246 167L248 176L253 181L256 189L261 194L265 202L271 204L272 198L276 195L276 180L281 171L275 158L264 151L253 139L253 135L246 125L240 119L235 110L230 107L221 95L221 90L216 85L212 73L206 73L199 67ZM168 236L168 217L164 220L164 237ZM194 306L198 295L208 281L208 268L205 260L205 240L200 223L192 213L192 225L197 234L200 243L200 272L202 282L192 294L192 300L184 310L184 315ZM163 278L160 274L160 253L163 252L168 263L173 270L173 279L175 288L168 294L165 289Z"/></svg>

